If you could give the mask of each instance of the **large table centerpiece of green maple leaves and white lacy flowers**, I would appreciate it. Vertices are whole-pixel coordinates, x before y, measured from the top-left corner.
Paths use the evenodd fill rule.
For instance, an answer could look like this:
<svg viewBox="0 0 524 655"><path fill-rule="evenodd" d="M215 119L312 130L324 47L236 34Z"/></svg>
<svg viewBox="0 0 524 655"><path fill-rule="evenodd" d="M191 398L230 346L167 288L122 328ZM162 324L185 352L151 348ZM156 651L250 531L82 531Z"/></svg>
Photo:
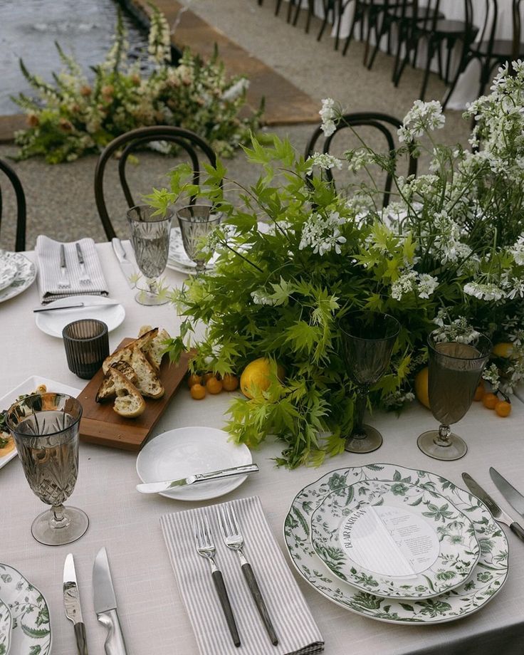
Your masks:
<svg viewBox="0 0 524 655"><path fill-rule="evenodd" d="M173 292L184 320L171 350L177 357L196 347L194 369L222 375L241 372L257 357L271 362L268 389L235 399L229 409L236 439L255 446L278 436L285 446L277 461L290 467L342 451L355 388L338 325L355 308L389 313L402 325L389 371L372 389L372 406L398 409L414 398L426 336L436 327L463 342L480 330L505 344L486 379L506 393L520 382L524 64L513 63L511 73L501 69L491 95L466 112L476 121L472 150L439 145L441 107L417 101L394 157L362 145L345 160L313 154L305 161L286 141L274 137L265 147L253 137L246 159L261 168L261 177L251 187L229 179L219 163L201 188L179 167L170 189L149 196L159 211L189 193L224 213L205 244L219 253L213 273ZM321 113L329 134L340 120L332 100ZM427 174L397 175L395 161L408 151L429 154ZM386 209L372 181L341 195L322 176L330 167L371 164L394 177L394 201ZM239 194L231 198L234 188ZM199 324L205 325L201 338L194 335Z"/></svg>

